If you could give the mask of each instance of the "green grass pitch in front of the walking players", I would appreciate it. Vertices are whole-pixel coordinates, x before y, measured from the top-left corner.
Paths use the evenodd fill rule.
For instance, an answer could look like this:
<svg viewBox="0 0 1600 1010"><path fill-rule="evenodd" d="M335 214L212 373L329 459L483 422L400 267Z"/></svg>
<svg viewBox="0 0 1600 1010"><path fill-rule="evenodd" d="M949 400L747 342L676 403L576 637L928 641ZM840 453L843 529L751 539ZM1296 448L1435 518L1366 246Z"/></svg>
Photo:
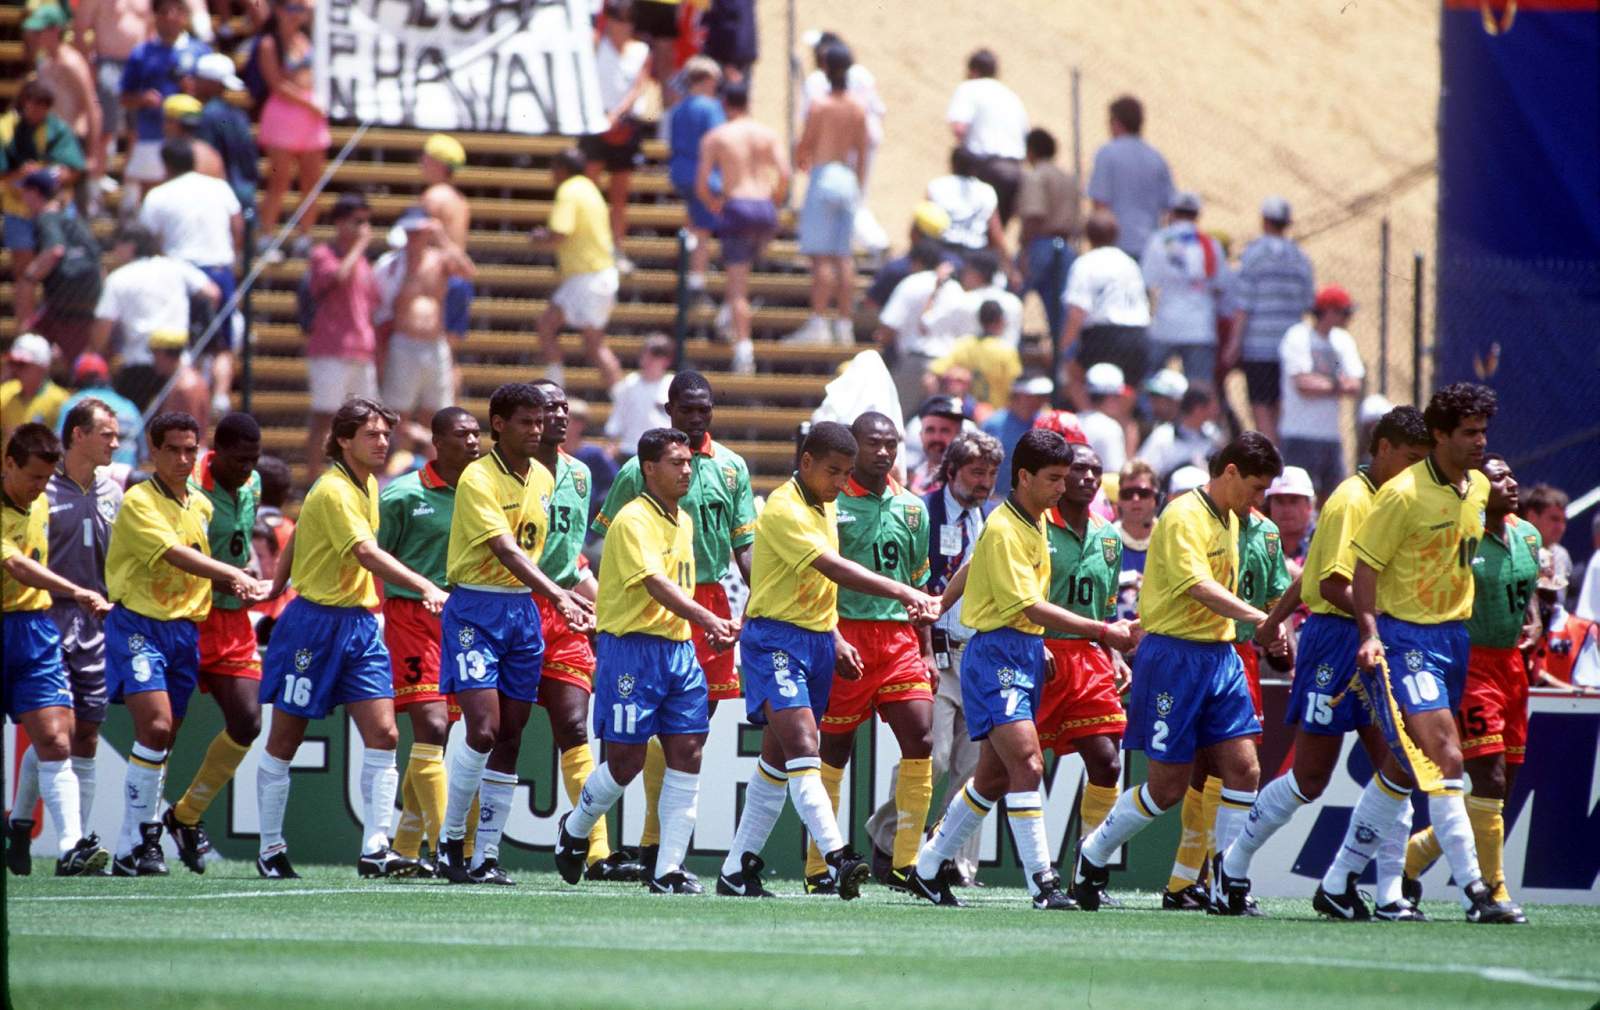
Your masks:
<svg viewBox="0 0 1600 1010"><path fill-rule="evenodd" d="M1035 912L976 892L936 909L862 898L666 898L638 887L365 882L354 868L259 880L243 863L195 877L6 880L11 1005L163 1007L1594 1007L1600 908L1531 908L1531 927L1334 924L1309 901L1267 919ZM709 884L709 880L707 880Z"/></svg>

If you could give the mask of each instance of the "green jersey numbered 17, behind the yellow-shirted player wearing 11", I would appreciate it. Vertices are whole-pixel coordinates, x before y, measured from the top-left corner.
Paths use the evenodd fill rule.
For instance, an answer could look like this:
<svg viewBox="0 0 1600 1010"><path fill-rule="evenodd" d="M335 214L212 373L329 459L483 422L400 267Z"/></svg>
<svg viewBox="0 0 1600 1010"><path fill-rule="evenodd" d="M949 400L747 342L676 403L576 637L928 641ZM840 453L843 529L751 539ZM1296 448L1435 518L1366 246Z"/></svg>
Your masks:
<svg viewBox="0 0 1600 1010"><path fill-rule="evenodd" d="M600 506L594 531L605 536L622 506L645 490L638 458L629 459L611 483ZM755 496L750 493L750 467L738 453L718 445L710 435L693 455L690 493L678 499L694 520L694 581L717 583L728 570L733 552L755 543Z"/></svg>

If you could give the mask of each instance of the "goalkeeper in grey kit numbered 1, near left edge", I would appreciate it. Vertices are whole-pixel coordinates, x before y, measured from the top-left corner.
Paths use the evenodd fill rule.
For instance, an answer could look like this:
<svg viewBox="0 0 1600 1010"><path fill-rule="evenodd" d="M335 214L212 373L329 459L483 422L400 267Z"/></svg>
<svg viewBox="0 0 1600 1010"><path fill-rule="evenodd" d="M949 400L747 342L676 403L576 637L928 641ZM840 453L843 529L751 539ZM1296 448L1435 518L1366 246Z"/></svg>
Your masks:
<svg viewBox="0 0 1600 1010"><path fill-rule="evenodd" d="M122 507L122 487L99 474L118 447L117 415L102 400L78 400L61 426L64 456L45 499L54 511L50 523L50 570L75 586L106 595L106 547L110 523ZM78 776L78 812L90 823L94 810L94 752L106 722L106 629L102 615L72 594L50 595L50 619L61 632L61 659L72 683L72 773ZM29 850L34 807L38 805L38 749L29 744L16 776L16 797L6 826L11 872L32 872ZM104 872L104 871L101 871Z"/></svg>

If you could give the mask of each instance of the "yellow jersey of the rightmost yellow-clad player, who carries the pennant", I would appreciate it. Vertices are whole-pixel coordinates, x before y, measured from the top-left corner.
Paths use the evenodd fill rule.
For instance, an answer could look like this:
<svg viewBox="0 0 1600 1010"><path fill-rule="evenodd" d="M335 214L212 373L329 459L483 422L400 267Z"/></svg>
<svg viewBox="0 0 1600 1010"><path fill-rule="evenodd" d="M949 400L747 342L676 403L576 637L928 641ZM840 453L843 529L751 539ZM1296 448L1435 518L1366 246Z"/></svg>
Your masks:
<svg viewBox="0 0 1600 1010"><path fill-rule="evenodd" d="M1430 456L1378 491L1355 535L1355 557L1378 570L1382 613L1413 624L1472 616L1472 559L1483 539L1490 479L1467 471L1467 480L1462 493Z"/></svg>

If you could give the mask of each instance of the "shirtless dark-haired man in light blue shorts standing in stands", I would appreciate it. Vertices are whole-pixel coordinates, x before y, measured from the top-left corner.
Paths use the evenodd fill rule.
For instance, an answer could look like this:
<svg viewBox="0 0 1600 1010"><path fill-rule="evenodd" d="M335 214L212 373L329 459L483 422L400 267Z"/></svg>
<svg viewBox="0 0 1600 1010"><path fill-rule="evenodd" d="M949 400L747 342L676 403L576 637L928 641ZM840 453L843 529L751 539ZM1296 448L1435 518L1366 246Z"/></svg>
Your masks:
<svg viewBox="0 0 1600 1010"><path fill-rule="evenodd" d="M856 261L850 237L867 171L867 112L850 94L846 77L854 58L845 43L822 50L829 93L814 102L795 149L798 168L811 170L800 208L800 251L811 258L811 319L790 333L794 344L853 344L856 317ZM829 320L829 306L838 314Z"/></svg>

